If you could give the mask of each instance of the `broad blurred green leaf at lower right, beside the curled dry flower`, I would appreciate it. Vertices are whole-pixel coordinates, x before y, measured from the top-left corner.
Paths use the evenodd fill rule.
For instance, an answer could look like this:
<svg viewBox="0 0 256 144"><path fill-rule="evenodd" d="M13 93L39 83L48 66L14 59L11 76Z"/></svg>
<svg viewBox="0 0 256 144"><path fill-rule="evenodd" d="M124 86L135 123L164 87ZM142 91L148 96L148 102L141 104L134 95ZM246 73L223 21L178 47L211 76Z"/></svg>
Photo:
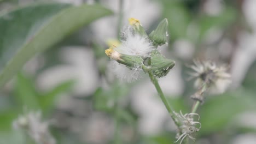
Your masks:
<svg viewBox="0 0 256 144"><path fill-rule="evenodd" d="M202 124L200 135L222 130L237 114L256 110L256 98L248 91L236 90L236 92L216 95L212 98L207 97L207 99L199 112Z"/></svg>

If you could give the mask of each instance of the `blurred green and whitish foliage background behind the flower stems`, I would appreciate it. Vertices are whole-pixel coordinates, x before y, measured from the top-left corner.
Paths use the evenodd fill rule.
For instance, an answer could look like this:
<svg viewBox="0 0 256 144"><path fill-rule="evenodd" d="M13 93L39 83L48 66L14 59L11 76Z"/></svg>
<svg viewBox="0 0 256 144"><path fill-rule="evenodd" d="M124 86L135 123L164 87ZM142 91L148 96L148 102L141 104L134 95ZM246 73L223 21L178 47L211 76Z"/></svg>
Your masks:
<svg viewBox="0 0 256 144"><path fill-rule="evenodd" d="M38 110L57 143L173 143L176 128L147 77L121 83L108 72L104 49L127 17L147 32L168 19L160 49L177 65L160 85L177 112L193 104L186 65L229 65L232 85L208 94L195 143L255 143L256 1L45 2L0 1L0 143L26 143L12 122Z"/></svg>

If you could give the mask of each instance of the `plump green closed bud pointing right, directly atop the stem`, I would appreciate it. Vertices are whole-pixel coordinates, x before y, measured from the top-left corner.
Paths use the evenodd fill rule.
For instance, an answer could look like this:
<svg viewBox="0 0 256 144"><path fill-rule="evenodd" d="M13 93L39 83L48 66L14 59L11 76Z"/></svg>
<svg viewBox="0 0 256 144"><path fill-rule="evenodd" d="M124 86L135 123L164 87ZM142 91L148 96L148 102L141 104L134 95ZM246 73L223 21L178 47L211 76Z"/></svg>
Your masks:
<svg viewBox="0 0 256 144"><path fill-rule="evenodd" d="M175 65L174 61L165 58L159 51L153 51L151 56L151 69L155 77L160 78L166 76L170 69L172 69Z"/></svg>

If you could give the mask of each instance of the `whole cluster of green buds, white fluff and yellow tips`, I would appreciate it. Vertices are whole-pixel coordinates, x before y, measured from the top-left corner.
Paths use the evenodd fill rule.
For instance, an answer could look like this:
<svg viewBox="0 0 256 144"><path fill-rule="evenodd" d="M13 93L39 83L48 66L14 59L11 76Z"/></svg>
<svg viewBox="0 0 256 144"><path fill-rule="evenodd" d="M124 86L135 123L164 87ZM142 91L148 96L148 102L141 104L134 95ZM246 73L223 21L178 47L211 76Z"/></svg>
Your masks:
<svg viewBox="0 0 256 144"><path fill-rule="evenodd" d="M121 44L105 50L106 55L114 60L112 65L116 68L112 70L115 75L120 79L132 81L138 79L139 71L142 71L143 66L147 66L147 70L151 70L155 77L166 76L175 63L162 56L156 48L167 43L167 20L161 21L149 36L139 20L130 18L129 23L131 26L123 32Z"/></svg>

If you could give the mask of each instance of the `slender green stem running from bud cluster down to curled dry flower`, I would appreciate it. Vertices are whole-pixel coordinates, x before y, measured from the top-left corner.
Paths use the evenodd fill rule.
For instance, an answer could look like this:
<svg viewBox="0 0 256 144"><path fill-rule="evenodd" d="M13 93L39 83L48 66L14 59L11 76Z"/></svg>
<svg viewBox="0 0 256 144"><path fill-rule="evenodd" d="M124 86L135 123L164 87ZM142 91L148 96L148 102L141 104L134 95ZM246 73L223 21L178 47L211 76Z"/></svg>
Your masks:
<svg viewBox="0 0 256 144"><path fill-rule="evenodd" d="M154 84L156 91L158 92L158 95L160 96L162 102L164 103L168 113L170 114L171 118L173 119L174 123L177 125L179 131L181 131L180 126L181 126L181 122L179 122L178 117L176 116L176 114L174 113L174 111L172 110L170 104L168 103L167 99L165 98L164 93L162 92L161 87L159 86L158 83L158 79L156 79L152 73L152 71L148 70L148 68L146 66L143 65L142 69L144 71L147 71L150 80L152 81L152 83Z"/></svg>

